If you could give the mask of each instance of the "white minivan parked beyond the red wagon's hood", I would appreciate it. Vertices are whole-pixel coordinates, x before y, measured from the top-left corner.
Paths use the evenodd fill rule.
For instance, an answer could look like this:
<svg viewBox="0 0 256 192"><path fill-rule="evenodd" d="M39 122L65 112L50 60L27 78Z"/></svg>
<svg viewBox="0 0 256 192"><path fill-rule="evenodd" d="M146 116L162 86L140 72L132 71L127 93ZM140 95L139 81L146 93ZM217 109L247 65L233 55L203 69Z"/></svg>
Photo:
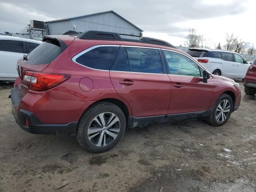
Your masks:
<svg viewBox="0 0 256 192"><path fill-rule="evenodd" d="M243 79L250 66L240 54L216 49L189 48L188 54L214 75Z"/></svg>

